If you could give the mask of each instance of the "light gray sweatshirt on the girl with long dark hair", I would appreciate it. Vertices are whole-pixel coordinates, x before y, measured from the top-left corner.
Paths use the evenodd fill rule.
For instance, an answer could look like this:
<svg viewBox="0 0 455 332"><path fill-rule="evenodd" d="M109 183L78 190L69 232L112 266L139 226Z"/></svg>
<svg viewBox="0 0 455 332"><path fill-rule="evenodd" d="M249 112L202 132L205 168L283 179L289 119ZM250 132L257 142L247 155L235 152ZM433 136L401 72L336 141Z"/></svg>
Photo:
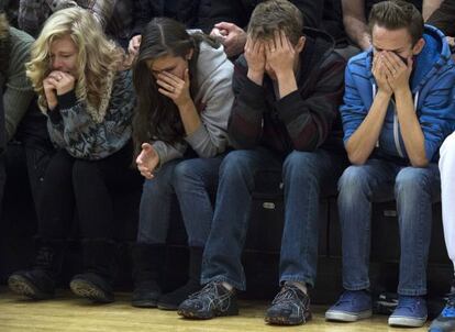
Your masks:
<svg viewBox="0 0 455 332"><path fill-rule="evenodd" d="M223 46L213 48L202 42L197 63L197 89L195 106L200 112L201 126L185 137L182 144L170 145L155 141L153 146L159 156L160 165L181 158L188 145L203 158L223 153L228 142L228 120L234 95L232 75L234 66L228 59Z"/></svg>

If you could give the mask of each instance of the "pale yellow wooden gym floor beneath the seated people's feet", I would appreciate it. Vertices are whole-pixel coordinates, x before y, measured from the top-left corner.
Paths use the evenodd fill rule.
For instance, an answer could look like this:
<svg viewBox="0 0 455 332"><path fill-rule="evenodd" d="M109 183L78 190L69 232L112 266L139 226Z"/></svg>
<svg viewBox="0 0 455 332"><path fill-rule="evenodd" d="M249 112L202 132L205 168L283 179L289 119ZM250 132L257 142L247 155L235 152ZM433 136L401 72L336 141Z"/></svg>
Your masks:
<svg viewBox="0 0 455 332"><path fill-rule="evenodd" d="M241 316L209 321L188 321L174 311L137 309L130 306L130 295L119 294L111 305L93 306L62 291L47 301L18 298L7 288L0 288L0 332L22 331L149 331L149 332L223 332L223 331L426 331L422 329L392 329L387 317L376 316L357 323L324 321L325 307L313 307L313 320L293 328L269 327L264 323L266 302L241 301Z"/></svg>

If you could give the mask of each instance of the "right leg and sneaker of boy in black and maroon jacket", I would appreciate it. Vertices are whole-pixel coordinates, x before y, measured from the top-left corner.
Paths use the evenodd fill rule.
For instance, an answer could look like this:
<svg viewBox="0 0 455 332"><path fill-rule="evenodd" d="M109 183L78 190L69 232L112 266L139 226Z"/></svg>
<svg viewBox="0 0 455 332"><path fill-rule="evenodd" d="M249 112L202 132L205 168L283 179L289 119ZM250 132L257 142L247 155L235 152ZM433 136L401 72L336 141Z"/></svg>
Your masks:
<svg viewBox="0 0 455 332"><path fill-rule="evenodd" d="M281 239L281 291L266 321L300 324L311 318L307 286L317 277L320 196L336 192L346 157L324 150L292 152L284 164L285 228Z"/></svg>

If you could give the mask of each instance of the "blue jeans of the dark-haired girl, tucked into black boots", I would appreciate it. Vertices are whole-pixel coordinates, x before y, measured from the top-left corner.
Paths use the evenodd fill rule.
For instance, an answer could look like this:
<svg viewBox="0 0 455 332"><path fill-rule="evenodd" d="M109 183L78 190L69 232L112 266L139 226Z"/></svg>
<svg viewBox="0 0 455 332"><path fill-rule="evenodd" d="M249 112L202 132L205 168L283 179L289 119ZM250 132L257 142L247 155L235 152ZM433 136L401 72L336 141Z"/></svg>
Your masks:
<svg viewBox="0 0 455 332"><path fill-rule="evenodd" d="M215 192L223 156L177 159L144 181L140 206L138 243L164 244L171 206L178 200L190 246L203 247L213 219L210 192Z"/></svg>

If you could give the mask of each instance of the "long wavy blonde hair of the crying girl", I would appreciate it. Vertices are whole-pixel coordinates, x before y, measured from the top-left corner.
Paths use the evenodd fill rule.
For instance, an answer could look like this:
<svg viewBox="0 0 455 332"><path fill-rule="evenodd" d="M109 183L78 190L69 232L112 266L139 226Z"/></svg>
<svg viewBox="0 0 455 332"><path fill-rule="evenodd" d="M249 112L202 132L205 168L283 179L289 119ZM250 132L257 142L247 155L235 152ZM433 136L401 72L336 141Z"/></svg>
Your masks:
<svg viewBox="0 0 455 332"><path fill-rule="evenodd" d="M109 41L93 15L81 8L67 8L48 18L31 49L25 64L26 76L38 95L40 108L45 112L47 102L43 80L52 71L51 45L69 35L77 48L78 101L86 101L90 115L101 122L106 115L115 71L123 60L123 51Z"/></svg>

